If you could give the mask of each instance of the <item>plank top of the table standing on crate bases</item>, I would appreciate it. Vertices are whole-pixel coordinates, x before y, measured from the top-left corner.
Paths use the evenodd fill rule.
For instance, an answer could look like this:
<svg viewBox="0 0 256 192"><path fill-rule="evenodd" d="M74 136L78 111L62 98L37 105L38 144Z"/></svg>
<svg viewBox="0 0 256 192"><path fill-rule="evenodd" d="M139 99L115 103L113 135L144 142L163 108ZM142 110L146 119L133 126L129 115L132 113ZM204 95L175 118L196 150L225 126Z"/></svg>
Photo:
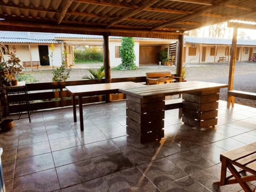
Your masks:
<svg viewBox="0 0 256 192"><path fill-rule="evenodd" d="M137 98L162 97L166 95L203 91L207 89L220 89L228 87L227 84L188 81L170 84L150 85L128 89L119 89L119 92L133 95Z"/></svg>

